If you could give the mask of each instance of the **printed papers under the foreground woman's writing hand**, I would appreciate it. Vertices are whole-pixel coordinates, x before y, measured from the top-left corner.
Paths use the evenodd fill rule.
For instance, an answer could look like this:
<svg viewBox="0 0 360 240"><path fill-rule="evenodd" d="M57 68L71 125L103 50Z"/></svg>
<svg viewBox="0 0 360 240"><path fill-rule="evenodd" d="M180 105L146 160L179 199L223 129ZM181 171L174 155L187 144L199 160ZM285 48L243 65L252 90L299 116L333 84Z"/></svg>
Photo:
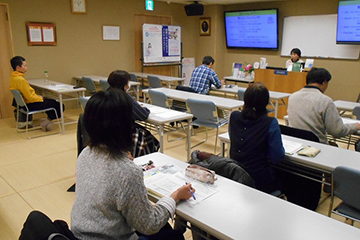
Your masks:
<svg viewBox="0 0 360 240"><path fill-rule="evenodd" d="M190 198L187 200L191 204L196 204L210 197L218 190L215 184L202 183L185 176L185 170L171 163L156 166L153 169L144 172L145 186L150 193L157 196L170 196L176 189L185 184L191 183L195 189L196 200Z"/></svg>

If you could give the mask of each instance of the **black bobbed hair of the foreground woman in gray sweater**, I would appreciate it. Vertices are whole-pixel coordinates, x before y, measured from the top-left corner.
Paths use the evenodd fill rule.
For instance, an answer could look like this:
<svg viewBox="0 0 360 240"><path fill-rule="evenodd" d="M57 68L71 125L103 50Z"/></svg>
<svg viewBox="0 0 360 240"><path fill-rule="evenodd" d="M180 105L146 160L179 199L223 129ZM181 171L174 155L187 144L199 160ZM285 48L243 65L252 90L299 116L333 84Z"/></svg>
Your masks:
<svg viewBox="0 0 360 240"><path fill-rule="evenodd" d="M132 101L119 89L95 93L86 103L84 126L90 137L90 148L112 157L130 151L132 142Z"/></svg>

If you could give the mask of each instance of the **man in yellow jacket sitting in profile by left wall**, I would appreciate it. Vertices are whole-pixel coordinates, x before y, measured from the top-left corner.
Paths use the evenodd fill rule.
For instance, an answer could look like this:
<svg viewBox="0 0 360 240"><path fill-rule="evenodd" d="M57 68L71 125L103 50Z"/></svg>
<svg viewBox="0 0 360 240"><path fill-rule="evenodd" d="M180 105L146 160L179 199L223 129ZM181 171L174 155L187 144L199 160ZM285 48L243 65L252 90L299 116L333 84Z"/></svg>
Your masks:
<svg viewBox="0 0 360 240"><path fill-rule="evenodd" d="M57 116L61 117L60 103L54 99L44 98L35 93L35 90L26 81L24 75L27 71L27 63L25 58L15 56L10 60L11 67L14 70L10 76L10 90L18 90L24 98L24 101L30 111L41 110L44 108L55 108ZM16 107L15 99L13 100L14 107ZM63 105L65 110L65 106ZM16 111L16 110L15 110ZM52 120L56 119L54 111L47 111L47 119L43 120L40 125L43 131L52 130ZM31 123L30 123L31 124ZM31 126L32 127L32 126Z"/></svg>

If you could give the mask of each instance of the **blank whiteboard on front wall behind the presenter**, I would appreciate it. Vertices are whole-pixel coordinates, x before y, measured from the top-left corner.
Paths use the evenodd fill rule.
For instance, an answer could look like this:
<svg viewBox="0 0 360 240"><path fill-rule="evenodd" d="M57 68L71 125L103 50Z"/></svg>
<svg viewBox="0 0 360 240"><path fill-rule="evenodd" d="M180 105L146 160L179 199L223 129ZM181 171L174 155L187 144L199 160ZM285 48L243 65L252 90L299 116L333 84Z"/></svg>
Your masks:
<svg viewBox="0 0 360 240"><path fill-rule="evenodd" d="M285 17L281 56L300 48L301 57L358 59L358 45L336 44L337 14Z"/></svg>

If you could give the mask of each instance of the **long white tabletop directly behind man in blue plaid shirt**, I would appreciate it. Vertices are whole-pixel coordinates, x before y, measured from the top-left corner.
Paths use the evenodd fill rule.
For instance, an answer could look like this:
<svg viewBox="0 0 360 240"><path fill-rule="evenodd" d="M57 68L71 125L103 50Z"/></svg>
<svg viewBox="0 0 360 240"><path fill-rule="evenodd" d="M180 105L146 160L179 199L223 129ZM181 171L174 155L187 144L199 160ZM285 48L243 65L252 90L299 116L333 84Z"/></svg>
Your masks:
<svg viewBox="0 0 360 240"><path fill-rule="evenodd" d="M183 102L186 102L186 100L189 98L212 101L216 105L216 107L230 111L239 109L244 105L244 102L240 100L203 95L203 94L180 91L169 88L152 88L152 90L163 92L168 98L172 98ZM148 89L145 89L143 90L143 93L147 93L148 91L149 91Z"/></svg>

